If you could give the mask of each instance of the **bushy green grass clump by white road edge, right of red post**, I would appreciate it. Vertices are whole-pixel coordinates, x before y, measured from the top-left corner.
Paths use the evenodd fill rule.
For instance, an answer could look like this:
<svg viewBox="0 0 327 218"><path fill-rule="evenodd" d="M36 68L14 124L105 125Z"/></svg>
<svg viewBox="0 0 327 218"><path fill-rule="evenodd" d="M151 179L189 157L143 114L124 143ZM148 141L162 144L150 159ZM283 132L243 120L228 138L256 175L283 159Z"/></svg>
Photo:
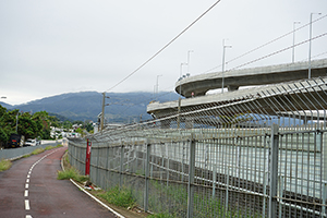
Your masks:
<svg viewBox="0 0 327 218"><path fill-rule="evenodd" d="M109 204L113 204L116 206L124 208L133 208L136 206L136 201L132 196L131 190L126 187L119 189L119 186L114 186L104 194L98 194L98 196L106 199Z"/></svg>

